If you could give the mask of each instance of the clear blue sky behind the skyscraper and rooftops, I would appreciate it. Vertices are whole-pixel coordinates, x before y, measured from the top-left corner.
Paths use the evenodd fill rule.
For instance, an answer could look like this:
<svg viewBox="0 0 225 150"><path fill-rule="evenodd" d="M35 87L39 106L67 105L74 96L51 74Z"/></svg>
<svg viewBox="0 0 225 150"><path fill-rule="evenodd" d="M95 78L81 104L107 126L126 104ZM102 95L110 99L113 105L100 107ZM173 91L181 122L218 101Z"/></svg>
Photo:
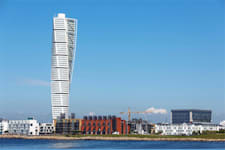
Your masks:
<svg viewBox="0 0 225 150"><path fill-rule="evenodd" d="M155 107L225 120L224 11L222 0L1 0L0 116L51 119L52 18L66 13L78 19L78 117Z"/></svg>

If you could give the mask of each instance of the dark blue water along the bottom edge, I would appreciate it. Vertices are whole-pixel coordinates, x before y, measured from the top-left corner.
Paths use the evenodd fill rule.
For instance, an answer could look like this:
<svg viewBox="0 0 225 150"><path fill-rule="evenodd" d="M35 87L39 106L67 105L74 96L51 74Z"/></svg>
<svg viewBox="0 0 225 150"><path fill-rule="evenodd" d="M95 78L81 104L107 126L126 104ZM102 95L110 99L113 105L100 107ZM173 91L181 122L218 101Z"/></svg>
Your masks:
<svg viewBox="0 0 225 150"><path fill-rule="evenodd" d="M0 149L225 149L225 142L0 139Z"/></svg>

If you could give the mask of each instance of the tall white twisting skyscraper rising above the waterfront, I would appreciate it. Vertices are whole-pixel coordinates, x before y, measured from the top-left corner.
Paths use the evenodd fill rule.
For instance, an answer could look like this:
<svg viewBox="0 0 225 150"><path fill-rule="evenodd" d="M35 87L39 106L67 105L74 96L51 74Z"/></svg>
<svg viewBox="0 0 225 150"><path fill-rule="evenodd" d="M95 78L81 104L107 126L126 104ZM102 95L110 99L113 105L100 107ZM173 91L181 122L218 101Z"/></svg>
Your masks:
<svg viewBox="0 0 225 150"><path fill-rule="evenodd" d="M76 52L77 20L58 14L53 19L51 101L52 119L69 114L69 93Z"/></svg>

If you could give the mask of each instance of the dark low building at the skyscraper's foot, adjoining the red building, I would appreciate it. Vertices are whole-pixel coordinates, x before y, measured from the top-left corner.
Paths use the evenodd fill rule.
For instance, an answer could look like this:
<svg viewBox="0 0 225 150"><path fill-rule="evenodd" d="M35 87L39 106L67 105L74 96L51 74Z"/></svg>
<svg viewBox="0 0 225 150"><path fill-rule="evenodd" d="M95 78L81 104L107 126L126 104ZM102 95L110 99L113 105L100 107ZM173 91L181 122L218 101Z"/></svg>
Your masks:
<svg viewBox="0 0 225 150"><path fill-rule="evenodd" d="M76 119L72 113L69 119L65 118L64 114L54 120L56 134L79 134L81 132L81 119Z"/></svg>

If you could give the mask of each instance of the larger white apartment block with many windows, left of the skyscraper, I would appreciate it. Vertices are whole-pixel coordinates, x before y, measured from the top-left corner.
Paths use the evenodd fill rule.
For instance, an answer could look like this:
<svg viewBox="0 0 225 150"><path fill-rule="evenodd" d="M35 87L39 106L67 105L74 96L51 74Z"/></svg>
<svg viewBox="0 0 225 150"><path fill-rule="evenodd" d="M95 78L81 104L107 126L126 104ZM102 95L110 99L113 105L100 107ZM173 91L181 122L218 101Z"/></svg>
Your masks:
<svg viewBox="0 0 225 150"><path fill-rule="evenodd" d="M39 123L33 118L9 120L8 133L18 135L39 135Z"/></svg>

